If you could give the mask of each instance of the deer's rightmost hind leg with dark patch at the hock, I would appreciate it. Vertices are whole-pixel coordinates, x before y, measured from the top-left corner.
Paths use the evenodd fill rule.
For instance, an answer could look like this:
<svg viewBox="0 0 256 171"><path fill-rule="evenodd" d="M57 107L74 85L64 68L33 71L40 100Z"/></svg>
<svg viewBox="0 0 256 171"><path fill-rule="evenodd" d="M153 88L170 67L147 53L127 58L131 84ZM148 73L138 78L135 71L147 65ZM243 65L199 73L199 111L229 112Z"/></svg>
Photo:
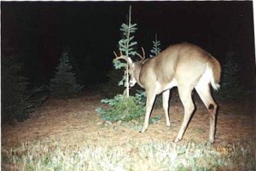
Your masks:
<svg viewBox="0 0 256 171"><path fill-rule="evenodd" d="M197 93L199 94L203 103L207 106L207 110L210 116L210 134L209 134L209 141L211 143L214 142L214 135L216 129L216 110L217 105L212 99L210 87L208 83L199 83L195 86Z"/></svg>

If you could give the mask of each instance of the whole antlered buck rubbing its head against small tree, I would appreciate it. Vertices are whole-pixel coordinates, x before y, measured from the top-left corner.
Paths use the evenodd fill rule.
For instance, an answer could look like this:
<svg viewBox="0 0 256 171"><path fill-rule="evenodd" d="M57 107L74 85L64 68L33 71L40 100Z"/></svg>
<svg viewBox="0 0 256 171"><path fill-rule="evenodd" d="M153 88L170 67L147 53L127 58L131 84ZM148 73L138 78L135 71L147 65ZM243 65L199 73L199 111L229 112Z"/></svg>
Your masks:
<svg viewBox="0 0 256 171"><path fill-rule="evenodd" d="M217 105L212 99L210 84L212 88L218 90L221 72L218 60L204 49L191 43L171 45L156 57L150 59L145 59L143 51L143 57L139 55L142 60L137 62L133 62L130 57L123 54L120 54L120 56L115 54L115 56L114 60L126 60L129 65L129 86L133 87L138 83L142 88L145 88L147 103L142 133L148 128L154 99L160 93L163 97L166 127L171 127L168 112L169 95L170 89L177 86L180 100L183 103L184 117L174 142L182 140L189 119L195 110L191 98L191 92L195 88L204 105L207 106L210 116L209 141L214 142Z"/></svg>

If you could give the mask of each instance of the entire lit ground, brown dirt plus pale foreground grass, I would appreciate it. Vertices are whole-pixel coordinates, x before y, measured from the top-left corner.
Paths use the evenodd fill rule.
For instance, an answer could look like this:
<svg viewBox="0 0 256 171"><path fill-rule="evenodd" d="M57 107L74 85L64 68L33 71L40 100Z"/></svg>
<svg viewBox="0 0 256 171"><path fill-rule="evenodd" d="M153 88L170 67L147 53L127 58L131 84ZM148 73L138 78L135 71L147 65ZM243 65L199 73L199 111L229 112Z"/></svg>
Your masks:
<svg viewBox="0 0 256 171"><path fill-rule="evenodd" d="M209 117L200 100L183 140L172 143L183 107L171 100L172 128L165 117L150 124L104 123L95 109L102 98L49 99L32 118L2 127L2 170L256 170L255 111L220 104L216 143L208 145ZM164 111L153 111L152 117Z"/></svg>

